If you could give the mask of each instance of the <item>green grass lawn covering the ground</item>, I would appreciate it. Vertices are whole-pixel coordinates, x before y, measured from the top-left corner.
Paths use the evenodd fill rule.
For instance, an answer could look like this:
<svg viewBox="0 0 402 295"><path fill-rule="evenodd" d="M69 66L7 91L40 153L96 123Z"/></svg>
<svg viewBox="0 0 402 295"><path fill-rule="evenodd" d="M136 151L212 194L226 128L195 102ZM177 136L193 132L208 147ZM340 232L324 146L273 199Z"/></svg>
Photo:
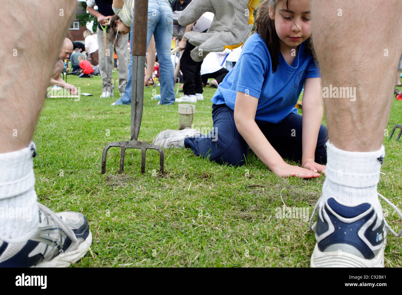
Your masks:
<svg viewBox="0 0 402 295"><path fill-rule="evenodd" d="M119 174L118 148L109 149L107 172L102 175L105 145L130 138L131 106L111 106L113 100L99 98L99 76L69 75L68 82L94 96L82 96L79 102L45 100L33 138L38 153L34 170L41 203L55 212L78 211L88 218L92 255L77 267L310 265L315 238L308 222L276 218L275 208L282 208L282 198L287 207L308 207L311 214L324 176L284 179L252 152L246 167L235 168L195 157L187 149L165 150L165 177L152 173L159 168L156 151L147 152L142 175L141 153L129 149L124 173ZM177 104L157 106L150 99L152 90L146 88L144 94L139 140L145 142L152 142L161 130L178 128ZM196 104L195 126L212 127L213 93L213 88L204 88L205 100ZM402 102L394 100L389 132L401 118ZM387 153L381 171L386 175L381 175L378 191L402 208L402 141L395 142L395 137L384 138ZM387 220L398 230L402 225L392 210ZM387 267L402 266L401 245L400 239L388 238Z"/></svg>

